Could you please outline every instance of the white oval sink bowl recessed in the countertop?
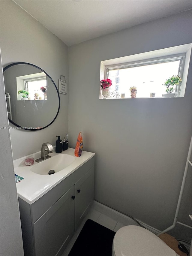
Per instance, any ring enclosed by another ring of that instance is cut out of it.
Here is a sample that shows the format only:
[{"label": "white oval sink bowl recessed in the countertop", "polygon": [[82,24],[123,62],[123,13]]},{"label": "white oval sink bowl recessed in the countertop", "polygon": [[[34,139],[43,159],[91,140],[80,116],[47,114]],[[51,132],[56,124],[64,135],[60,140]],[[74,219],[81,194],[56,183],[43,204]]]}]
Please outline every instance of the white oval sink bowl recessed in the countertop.
[{"label": "white oval sink bowl recessed in the countertop", "polygon": [[[63,170],[75,161],[75,156],[59,154],[48,158],[35,166],[31,167],[31,171],[40,175],[49,175],[49,170],[54,170],[55,173]],[[54,175],[54,174],[51,174]]]}]

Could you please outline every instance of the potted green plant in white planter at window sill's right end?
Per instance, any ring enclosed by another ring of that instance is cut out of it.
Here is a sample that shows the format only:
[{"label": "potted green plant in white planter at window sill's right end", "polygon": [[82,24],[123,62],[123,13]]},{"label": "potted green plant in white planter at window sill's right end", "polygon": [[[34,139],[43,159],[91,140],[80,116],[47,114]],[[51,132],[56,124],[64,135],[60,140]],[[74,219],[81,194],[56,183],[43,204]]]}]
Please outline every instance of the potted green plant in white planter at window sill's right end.
[{"label": "potted green plant in white planter at window sill's right end", "polygon": [[175,96],[174,91],[176,89],[176,85],[178,85],[181,81],[182,79],[178,75],[174,75],[168,78],[164,83],[164,86],[167,88],[165,90],[167,93],[162,94],[162,97],[165,97],[165,98],[174,97]]}]

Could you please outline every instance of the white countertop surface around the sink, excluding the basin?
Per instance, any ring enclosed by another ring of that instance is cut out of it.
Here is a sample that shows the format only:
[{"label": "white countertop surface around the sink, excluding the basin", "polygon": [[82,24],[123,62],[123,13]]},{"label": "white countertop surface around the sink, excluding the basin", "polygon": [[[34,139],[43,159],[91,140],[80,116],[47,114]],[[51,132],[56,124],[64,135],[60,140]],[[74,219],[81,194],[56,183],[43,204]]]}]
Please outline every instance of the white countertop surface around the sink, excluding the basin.
[{"label": "white countertop surface around the sink, excluding the basin", "polygon": [[[60,154],[74,156],[74,151],[75,149],[68,148],[67,150],[63,151]],[[54,155],[60,154],[53,152],[52,154],[49,155],[53,157]],[[40,197],[46,194],[49,190],[55,187],[59,182],[64,180],[67,176],[69,176],[76,169],[82,166],[85,162],[91,159],[94,155],[95,153],[82,151],[82,155],[80,157],[74,156],[76,159],[72,164],[52,175],[40,175],[32,172],[30,169],[35,165],[39,164],[35,161],[33,165],[25,165],[26,158],[33,157],[34,160],[40,158],[41,151],[14,160],[13,164],[15,174],[24,178],[22,181],[16,183],[18,197],[22,198],[29,204],[34,203],[36,200],[38,200]]]}]

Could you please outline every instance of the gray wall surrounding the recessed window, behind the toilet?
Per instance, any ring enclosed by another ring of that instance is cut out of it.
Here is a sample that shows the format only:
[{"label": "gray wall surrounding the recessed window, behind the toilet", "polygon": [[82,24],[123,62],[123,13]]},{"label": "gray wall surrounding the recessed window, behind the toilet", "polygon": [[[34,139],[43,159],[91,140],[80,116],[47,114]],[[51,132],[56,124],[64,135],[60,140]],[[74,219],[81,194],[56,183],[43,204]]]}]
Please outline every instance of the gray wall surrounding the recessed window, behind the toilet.
[{"label": "gray wall surrounding the recessed window, behind the toilet", "polygon": [[[188,43],[191,11],[69,47],[69,141],[81,130],[96,153],[95,200],[159,230],[173,224],[190,144],[191,62],[184,98],[99,100],[100,62]],[[179,221],[191,225],[187,179]]]}]

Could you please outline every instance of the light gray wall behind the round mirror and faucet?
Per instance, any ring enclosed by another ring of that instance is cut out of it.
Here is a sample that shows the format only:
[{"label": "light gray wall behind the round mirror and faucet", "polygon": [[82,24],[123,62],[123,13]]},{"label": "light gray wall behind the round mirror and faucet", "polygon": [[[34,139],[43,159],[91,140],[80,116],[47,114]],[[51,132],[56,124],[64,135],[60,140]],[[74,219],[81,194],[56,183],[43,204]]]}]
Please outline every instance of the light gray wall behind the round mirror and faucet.
[{"label": "light gray wall behind the round mirror and faucet", "polygon": [[[28,62],[46,71],[57,88],[60,75],[68,83],[67,45],[13,1],[0,1],[0,45],[3,68],[13,62]],[[44,142],[54,146],[56,136],[64,137],[68,132],[68,93],[60,94],[60,99],[60,112],[49,127],[10,130],[13,159],[40,151]]]}]

